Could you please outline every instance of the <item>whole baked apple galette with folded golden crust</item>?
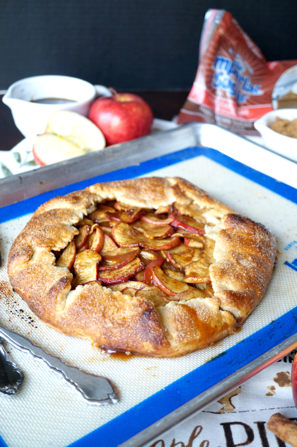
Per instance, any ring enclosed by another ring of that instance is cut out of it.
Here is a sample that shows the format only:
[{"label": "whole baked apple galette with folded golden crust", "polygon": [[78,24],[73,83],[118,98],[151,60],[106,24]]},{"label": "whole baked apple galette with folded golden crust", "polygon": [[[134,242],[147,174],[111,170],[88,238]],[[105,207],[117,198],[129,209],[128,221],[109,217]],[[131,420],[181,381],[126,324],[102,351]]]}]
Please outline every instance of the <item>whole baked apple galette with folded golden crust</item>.
[{"label": "whole baked apple galette with folded golden crust", "polygon": [[226,337],[276,257],[261,224],[178,177],[97,183],[44,203],[8,274],[47,325],[96,346],[175,357]]}]

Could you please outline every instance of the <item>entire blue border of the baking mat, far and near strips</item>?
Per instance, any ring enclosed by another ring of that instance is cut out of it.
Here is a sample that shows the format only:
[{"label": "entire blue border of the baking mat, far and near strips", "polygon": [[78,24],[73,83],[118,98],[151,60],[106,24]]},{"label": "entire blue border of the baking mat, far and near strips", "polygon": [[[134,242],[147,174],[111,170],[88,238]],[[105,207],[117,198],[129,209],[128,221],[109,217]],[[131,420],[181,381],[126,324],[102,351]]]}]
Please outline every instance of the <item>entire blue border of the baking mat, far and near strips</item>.
[{"label": "entire blue border of the baking mat, far and near strips", "polygon": [[[201,155],[297,203],[297,190],[292,186],[276,181],[215,149],[192,147],[2,207],[0,222],[33,212],[39,205],[56,195],[67,194],[96,182],[138,177]],[[180,175],[183,176],[183,173]],[[296,332],[297,307],[68,447],[116,447],[124,443]],[[0,438],[0,447],[2,447],[1,441]],[[3,447],[6,447],[4,442]]]}]

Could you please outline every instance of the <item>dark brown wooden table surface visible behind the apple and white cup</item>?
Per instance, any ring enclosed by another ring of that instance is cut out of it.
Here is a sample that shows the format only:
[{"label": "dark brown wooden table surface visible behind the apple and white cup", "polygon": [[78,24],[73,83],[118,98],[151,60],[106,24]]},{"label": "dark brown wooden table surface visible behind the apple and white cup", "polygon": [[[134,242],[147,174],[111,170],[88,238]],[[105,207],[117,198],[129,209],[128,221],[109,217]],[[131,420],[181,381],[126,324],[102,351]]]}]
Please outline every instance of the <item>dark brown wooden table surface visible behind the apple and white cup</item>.
[{"label": "dark brown wooden table surface visible behind the apple and white cup", "polygon": [[[135,92],[133,92],[135,93]],[[155,118],[171,120],[180,111],[188,92],[136,92],[153,109]],[[13,122],[9,107],[0,95],[0,150],[9,151],[24,137]]]}]

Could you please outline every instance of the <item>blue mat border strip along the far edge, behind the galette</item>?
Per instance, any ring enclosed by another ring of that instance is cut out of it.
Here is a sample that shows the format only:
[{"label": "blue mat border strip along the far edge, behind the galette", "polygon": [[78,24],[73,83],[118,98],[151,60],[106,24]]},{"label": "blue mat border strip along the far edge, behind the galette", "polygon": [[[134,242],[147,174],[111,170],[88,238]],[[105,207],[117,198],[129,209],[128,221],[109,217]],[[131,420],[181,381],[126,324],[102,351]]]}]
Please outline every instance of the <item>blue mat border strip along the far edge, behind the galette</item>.
[{"label": "blue mat border strip along the far edge, behind the galette", "polygon": [[[161,157],[154,158],[153,160],[144,161],[136,166],[128,166],[127,168],[119,169],[118,171],[109,172],[97,177],[89,178],[88,180],[73,183],[72,185],[63,186],[62,188],[22,200],[21,202],[12,203],[11,205],[0,208],[0,223],[10,219],[15,219],[16,217],[28,213],[33,213],[39,205],[47,200],[50,200],[56,195],[64,195],[78,189],[83,189],[97,182],[125,180],[127,178],[138,177],[157,169],[165,168],[171,164],[176,164],[180,161],[188,160],[201,155],[222,164],[222,166],[231,169],[243,177],[255,181],[259,185],[265,186],[265,188],[280,194],[282,197],[297,203],[297,190],[292,186],[286,185],[285,183],[277,181],[266,174],[260,173],[259,171],[256,171],[255,169],[252,169],[249,166],[246,166],[245,164],[222,154],[216,149],[200,148],[195,146],[193,148],[182,149],[181,151],[163,155]],[[181,172],[180,175],[182,177],[183,173]]]}]

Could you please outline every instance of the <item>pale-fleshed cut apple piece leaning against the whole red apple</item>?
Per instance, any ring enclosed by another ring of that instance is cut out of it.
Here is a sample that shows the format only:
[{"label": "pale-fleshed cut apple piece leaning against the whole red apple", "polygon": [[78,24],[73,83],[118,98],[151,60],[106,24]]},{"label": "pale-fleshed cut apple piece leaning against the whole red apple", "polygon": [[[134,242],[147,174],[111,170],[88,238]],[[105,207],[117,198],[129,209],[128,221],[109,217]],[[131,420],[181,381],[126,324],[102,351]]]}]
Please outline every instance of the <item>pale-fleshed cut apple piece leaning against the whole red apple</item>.
[{"label": "pale-fleshed cut apple piece leaning against the whole red apple", "polygon": [[83,115],[70,110],[57,110],[52,113],[45,133],[65,138],[84,153],[100,151],[106,146],[105,137],[99,127]]}]

